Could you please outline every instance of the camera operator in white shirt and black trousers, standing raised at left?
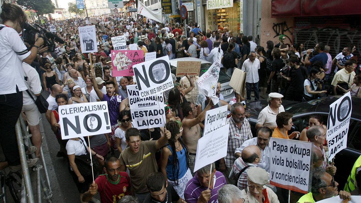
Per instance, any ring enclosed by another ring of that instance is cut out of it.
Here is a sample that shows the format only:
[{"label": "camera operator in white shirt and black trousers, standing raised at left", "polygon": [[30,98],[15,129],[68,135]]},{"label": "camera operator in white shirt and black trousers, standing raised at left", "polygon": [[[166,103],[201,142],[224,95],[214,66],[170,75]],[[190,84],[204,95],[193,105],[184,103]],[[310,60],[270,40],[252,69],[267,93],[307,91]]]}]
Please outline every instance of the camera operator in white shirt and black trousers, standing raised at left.
[{"label": "camera operator in white shirt and black trousers, standing raised at left", "polygon": [[[15,124],[23,105],[22,91],[27,90],[24,81],[22,62],[31,64],[35,59],[38,49],[44,52],[43,38],[35,36],[35,43],[29,49],[21,40],[19,33],[27,21],[26,14],[16,4],[4,2],[0,18],[0,143],[10,170],[21,170],[20,156],[17,145]],[[6,116],[5,116],[6,115]],[[32,167],[39,160],[29,160],[28,166]]]}]

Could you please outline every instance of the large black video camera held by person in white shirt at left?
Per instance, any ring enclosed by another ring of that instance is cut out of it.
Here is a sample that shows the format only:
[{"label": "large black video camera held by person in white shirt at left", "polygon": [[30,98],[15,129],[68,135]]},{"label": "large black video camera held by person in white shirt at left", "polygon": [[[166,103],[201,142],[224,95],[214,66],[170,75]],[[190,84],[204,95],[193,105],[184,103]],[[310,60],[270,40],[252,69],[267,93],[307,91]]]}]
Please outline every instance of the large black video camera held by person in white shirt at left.
[{"label": "large black video camera held by person in white shirt at left", "polygon": [[35,23],[35,26],[38,28],[30,25],[27,22],[25,22],[22,25],[22,28],[24,29],[23,32],[24,42],[28,43],[30,46],[34,45],[36,34],[38,34],[38,37],[43,38],[44,46],[48,47],[48,52],[54,52],[55,41],[59,42],[60,44],[64,44],[64,40],[62,40],[56,34],[51,33],[49,30],[45,29],[39,24]]}]

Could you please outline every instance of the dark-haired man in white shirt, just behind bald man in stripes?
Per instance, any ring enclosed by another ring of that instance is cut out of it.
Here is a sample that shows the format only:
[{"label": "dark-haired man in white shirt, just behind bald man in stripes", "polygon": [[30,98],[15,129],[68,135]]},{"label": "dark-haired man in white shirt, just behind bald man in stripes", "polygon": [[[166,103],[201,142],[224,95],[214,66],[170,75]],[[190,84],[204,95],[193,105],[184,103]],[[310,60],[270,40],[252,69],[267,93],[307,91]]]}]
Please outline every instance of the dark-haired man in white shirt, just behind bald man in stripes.
[{"label": "dark-haired man in white shirt, just behind bald man in stripes", "polygon": [[269,173],[270,172],[269,142],[271,136],[272,136],[272,130],[270,128],[268,127],[258,128],[257,137],[243,142],[243,144],[239,148],[236,148],[234,154],[235,157],[236,158],[241,157],[242,150],[245,147],[248,147],[250,145],[256,145],[261,150],[261,157],[260,157],[260,162],[258,163],[258,167],[265,169]]}]

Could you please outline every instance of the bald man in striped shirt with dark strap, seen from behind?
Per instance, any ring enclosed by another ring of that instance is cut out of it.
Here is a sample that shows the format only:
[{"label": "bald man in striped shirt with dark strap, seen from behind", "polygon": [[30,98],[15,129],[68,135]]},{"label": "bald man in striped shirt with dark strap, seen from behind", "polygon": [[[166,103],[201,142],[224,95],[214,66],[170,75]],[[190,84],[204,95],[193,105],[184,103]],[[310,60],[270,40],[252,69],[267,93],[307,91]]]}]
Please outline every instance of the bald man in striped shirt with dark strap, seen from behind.
[{"label": "bald man in striped shirt with dark strap, seen from behind", "polygon": [[229,174],[229,179],[237,181],[240,190],[247,188],[247,171],[251,167],[258,167],[261,160],[261,150],[256,145],[245,147],[242,156],[236,159]]}]

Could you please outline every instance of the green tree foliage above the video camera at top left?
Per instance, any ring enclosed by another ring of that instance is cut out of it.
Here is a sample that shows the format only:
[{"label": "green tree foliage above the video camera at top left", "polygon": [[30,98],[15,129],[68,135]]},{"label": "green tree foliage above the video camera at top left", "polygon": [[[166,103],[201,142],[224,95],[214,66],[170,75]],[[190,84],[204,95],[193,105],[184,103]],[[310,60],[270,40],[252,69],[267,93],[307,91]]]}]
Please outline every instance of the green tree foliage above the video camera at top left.
[{"label": "green tree foliage above the video camera at top left", "polygon": [[27,10],[35,10],[38,16],[54,13],[55,10],[51,0],[17,0],[16,3]]}]

